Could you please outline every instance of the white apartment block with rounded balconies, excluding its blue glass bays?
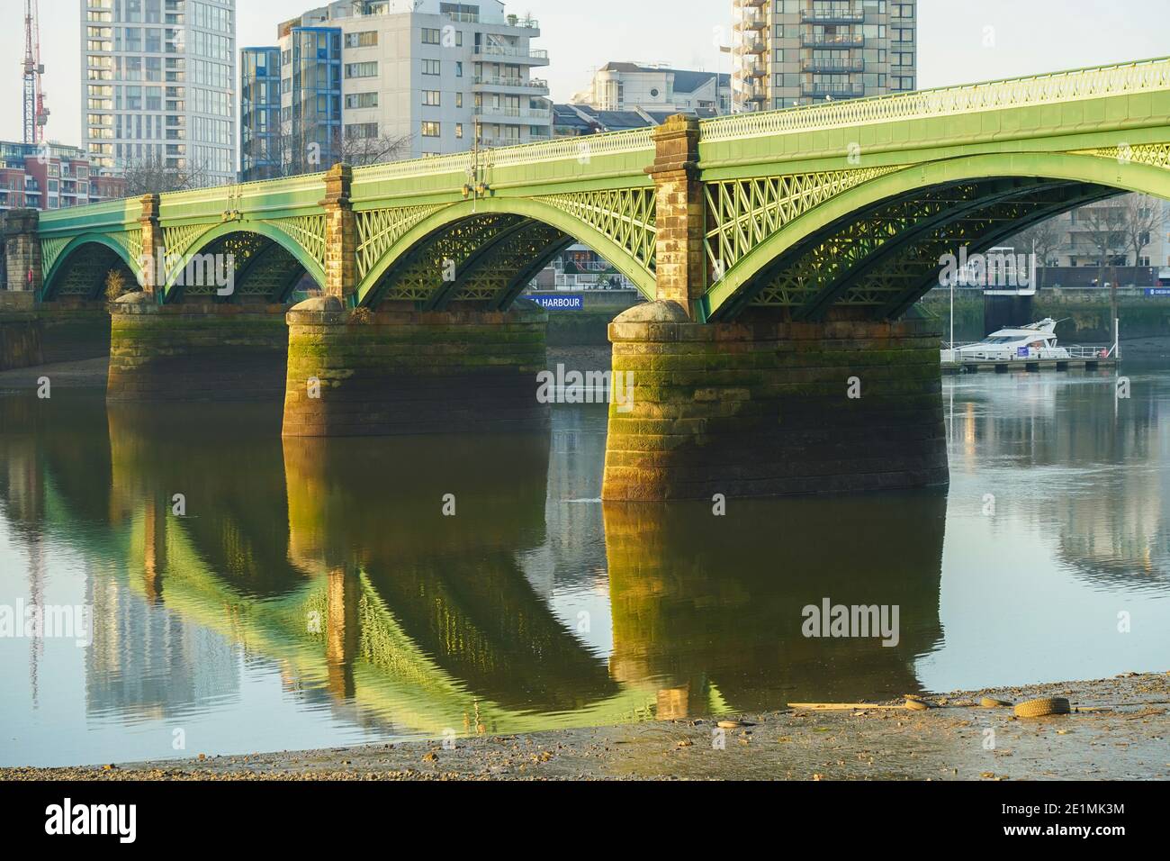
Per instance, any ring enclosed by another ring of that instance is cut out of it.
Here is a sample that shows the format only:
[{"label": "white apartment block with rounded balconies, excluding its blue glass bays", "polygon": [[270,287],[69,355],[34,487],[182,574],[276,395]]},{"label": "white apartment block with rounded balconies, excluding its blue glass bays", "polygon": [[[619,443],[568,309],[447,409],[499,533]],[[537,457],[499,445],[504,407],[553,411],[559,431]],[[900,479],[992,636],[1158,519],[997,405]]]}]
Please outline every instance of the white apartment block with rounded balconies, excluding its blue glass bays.
[{"label": "white apartment block with rounded balconies, excluding its blue glass bays", "polygon": [[[402,156],[429,156],[551,137],[549,56],[536,21],[497,0],[340,0],[281,25],[282,56],[296,28],[342,33],[346,137],[408,137]],[[292,121],[285,98],[284,122]]]}]

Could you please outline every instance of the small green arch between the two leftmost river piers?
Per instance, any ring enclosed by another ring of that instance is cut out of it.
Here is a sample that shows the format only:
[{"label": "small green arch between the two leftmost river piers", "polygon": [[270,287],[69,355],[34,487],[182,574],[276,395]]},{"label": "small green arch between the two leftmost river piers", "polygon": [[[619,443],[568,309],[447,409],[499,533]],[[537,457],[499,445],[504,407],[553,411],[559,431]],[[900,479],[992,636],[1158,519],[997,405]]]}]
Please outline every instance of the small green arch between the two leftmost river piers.
[{"label": "small green arch between the two leftmost river piers", "polygon": [[[234,289],[223,301],[267,300],[282,303],[308,274],[318,287],[325,286],[322,254],[310,253],[304,245],[280,226],[259,220],[223,221],[206,230],[185,245],[167,248],[168,258],[181,261],[170,272],[164,287],[164,302],[183,301],[197,293],[216,296],[208,285],[185,285],[187,264],[197,254],[232,254],[234,261]],[[192,287],[197,289],[192,289]]]}]

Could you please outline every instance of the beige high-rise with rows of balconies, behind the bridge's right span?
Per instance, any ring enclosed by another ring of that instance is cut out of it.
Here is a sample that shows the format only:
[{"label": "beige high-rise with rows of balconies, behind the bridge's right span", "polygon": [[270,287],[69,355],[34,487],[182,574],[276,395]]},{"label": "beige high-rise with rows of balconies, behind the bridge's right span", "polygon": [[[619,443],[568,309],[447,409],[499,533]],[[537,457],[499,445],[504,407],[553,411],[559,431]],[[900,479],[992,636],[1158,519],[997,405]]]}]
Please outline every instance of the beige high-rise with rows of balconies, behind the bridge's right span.
[{"label": "beige high-rise with rows of balconies, behind the bridge's right span", "polygon": [[917,0],[732,0],[735,110],[917,86]]}]

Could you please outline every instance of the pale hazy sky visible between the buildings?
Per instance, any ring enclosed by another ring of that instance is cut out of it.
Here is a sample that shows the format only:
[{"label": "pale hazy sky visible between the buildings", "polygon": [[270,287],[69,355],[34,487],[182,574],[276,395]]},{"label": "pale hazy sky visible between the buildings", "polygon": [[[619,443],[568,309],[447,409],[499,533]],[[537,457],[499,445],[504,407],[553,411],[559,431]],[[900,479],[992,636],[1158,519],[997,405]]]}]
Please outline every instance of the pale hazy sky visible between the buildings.
[{"label": "pale hazy sky visible between the buildings", "polygon": [[[81,0],[40,0],[48,137],[81,143]],[[274,45],[276,23],[314,0],[236,0],[238,46]],[[539,20],[552,98],[566,102],[610,61],[729,71],[718,40],[730,0],[523,0]],[[944,87],[1170,55],[1166,0],[918,0],[918,86]],[[22,0],[0,0],[0,139],[21,138]]]}]

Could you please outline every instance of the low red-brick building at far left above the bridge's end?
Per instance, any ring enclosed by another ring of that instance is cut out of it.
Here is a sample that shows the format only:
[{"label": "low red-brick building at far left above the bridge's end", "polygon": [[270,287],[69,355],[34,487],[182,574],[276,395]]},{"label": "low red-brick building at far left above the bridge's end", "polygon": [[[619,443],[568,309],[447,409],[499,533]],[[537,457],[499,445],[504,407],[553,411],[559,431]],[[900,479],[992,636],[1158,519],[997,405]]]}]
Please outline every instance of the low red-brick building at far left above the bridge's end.
[{"label": "low red-brick building at far left above the bridge's end", "polygon": [[0,210],[62,210],[123,197],[125,180],[80,146],[0,141]]}]

